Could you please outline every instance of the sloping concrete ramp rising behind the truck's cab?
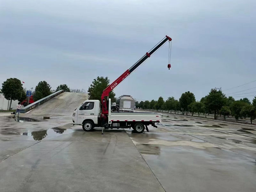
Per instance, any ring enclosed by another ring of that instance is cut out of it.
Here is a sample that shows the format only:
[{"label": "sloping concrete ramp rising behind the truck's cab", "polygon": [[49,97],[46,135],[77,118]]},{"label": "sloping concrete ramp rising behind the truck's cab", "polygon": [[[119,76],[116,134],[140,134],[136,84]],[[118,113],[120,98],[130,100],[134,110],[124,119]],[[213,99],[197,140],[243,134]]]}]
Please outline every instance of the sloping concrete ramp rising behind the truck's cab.
[{"label": "sloping concrete ramp rising behind the truck's cab", "polygon": [[32,109],[26,113],[26,116],[51,116],[51,118],[58,116],[70,118],[75,108],[87,99],[88,94],[85,93],[63,92]]}]

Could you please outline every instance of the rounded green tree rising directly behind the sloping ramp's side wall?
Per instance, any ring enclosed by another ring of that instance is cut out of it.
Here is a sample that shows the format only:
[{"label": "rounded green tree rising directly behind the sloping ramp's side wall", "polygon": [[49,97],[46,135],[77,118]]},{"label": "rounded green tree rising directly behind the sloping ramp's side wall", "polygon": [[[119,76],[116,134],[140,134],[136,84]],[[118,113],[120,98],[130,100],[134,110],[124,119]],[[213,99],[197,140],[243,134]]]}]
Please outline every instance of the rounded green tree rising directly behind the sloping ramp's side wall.
[{"label": "rounded green tree rising directly behind the sloping ramp's side wall", "polygon": [[33,100],[40,100],[48,95],[52,94],[51,86],[46,81],[40,81],[35,88],[35,93],[33,95]]}]

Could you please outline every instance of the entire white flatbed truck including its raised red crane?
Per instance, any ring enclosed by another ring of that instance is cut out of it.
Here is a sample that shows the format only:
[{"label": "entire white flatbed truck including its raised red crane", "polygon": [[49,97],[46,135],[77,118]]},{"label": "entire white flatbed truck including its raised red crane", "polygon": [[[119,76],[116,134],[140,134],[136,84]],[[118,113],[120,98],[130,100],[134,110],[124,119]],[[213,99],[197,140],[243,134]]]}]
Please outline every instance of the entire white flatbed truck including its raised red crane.
[{"label": "entire white flatbed truck including its raised red crane", "polygon": [[[99,100],[86,100],[78,108],[76,108],[73,113],[73,124],[82,125],[84,131],[92,131],[94,127],[104,127],[105,129],[132,128],[135,132],[142,133],[145,128],[148,131],[148,125],[152,125],[153,127],[157,128],[156,123],[161,123],[160,113],[111,112],[111,99],[109,99],[108,96],[117,85],[119,85],[127,76],[129,76],[168,40],[170,43],[172,38],[165,36],[149,52],[146,52],[146,54],[139,61],[132,65],[131,68],[127,69],[113,83],[104,89],[101,95],[101,103]],[[169,49],[169,52],[170,51],[171,50]],[[171,64],[168,64],[167,67],[170,69]]]}]

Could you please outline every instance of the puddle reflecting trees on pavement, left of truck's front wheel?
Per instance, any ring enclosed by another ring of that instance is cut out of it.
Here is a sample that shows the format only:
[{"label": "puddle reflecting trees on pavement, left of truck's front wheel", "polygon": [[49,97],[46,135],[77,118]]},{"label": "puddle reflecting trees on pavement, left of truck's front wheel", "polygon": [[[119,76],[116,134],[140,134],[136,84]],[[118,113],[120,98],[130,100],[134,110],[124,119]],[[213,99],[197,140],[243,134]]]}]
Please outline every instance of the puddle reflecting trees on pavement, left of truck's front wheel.
[{"label": "puddle reflecting trees on pavement, left of truck's front wheel", "polygon": [[59,127],[54,127],[52,129],[47,129],[42,131],[20,133],[20,135],[27,136],[26,137],[27,140],[40,141],[45,138],[51,139],[51,138],[57,137],[59,136],[59,134],[68,134],[72,132],[74,132],[74,130],[72,129],[61,129]]}]

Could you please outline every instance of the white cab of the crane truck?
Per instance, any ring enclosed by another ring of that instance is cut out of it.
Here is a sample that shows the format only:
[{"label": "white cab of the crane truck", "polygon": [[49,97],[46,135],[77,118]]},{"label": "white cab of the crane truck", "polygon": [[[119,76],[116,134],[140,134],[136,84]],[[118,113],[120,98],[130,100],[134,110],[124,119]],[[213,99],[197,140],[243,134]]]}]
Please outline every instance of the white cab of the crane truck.
[{"label": "white cab of the crane truck", "polygon": [[84,101],[73,113],[72,121],[74,124],[83,124],[91,121],[93,126],[99,123],[101,104],[99,100]]}]

